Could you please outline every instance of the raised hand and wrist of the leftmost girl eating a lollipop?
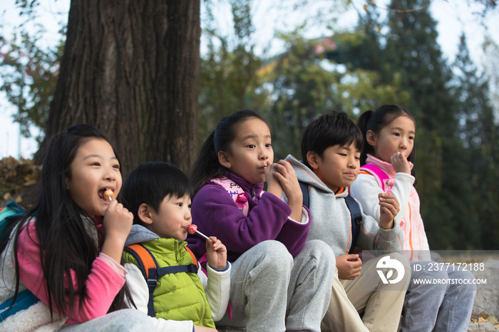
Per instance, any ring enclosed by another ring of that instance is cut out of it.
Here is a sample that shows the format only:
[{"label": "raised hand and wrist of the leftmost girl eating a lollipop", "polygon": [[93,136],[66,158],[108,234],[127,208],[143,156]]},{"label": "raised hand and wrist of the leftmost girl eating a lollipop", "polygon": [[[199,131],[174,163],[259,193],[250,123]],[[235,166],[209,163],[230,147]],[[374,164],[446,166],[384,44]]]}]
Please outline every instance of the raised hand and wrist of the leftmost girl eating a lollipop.
[{"label": "raised hand and wrist of the leftmost girl eating a lollipop", "polygon": [[133,224],[133,214],[113,199],[104,212],[103,229],[106,234],[101,252],[118,263],[121,261],[125,240]]}]

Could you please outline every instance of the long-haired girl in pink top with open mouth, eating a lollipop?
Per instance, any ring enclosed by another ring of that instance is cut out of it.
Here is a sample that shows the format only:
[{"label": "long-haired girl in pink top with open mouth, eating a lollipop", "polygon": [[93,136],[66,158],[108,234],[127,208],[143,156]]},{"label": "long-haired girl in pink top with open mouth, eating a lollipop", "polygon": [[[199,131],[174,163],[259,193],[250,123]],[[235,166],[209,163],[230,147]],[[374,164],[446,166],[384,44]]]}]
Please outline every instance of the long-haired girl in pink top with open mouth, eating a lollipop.
[{"label": "long-haired girl in pink top with open mouth, eating a lollipop", "polygon": [[133,214],[104,194],[122,183],[106,136],[88,125],[58,133],[40,181],[37,204],[6,219],[0,234],[0,302],[8,304],[0,330],[152,331],[144,313],[119,310],[128,303],[120,259]]}]

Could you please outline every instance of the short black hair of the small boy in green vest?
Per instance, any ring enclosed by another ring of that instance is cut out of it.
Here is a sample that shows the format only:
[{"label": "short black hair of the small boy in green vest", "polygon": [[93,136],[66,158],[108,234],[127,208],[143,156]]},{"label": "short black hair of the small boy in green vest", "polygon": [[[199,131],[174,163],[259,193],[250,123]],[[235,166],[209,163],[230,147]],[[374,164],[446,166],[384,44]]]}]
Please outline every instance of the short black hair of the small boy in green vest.
[{"label": "short black hair of the small boy in green vest", "polygon": [[148,204],[156,212],[166,197],[192,197],[192,185],[178,167],[168,162],[145,162],[135,168],[123,182],[120,197],[123,206],[133,213],[133,224],[144,223],[138,217],[140,204]]}]

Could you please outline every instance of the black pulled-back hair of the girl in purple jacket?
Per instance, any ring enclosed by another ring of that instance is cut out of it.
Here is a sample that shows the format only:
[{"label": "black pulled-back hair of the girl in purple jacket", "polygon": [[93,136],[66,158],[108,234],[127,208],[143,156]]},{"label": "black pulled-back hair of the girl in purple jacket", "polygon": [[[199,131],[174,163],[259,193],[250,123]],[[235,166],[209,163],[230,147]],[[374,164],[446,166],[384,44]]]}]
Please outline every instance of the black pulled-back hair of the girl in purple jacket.
[{"label": "black pulled-back hair of the girl in purple jacket", "polygon": [[[236,113],[225,116],[220,120],[215,131],[203,143],[197,160],[192,165],[190,178],[196,194],[205,183],[224,175],[225,167],[218,161],[218,152],[230,153],[230,143],[236,137],[237,126],[251,118],[257,118],[267,123],[253,110],[238,110]],[[268,123],[267,123],[268,126]]]}]

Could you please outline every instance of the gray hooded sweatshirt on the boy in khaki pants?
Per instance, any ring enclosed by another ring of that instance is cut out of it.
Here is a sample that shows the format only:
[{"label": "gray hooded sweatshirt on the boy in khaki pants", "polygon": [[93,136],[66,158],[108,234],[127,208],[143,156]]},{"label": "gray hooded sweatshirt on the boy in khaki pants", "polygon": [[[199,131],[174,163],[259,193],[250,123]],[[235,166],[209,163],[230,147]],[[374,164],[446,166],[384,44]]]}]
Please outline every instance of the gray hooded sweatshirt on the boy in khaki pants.
[{"label": "gray hooded sweatshirt on the boy in khaki pants", "polygon": [[[348,190],[334,194],[309,167],[288,155],[286,160],[291,163],[297,173],[298,180],[305,182],[309,188],[309,209],[312,214],[310,232],[307,241],[319,239],[333,249],[334,256],[349,253],[351,247],[351,217],[344,197]],[[287,202],[286,197],[283,197]],[[361,204],[357,201],[362,212],[362,226],[357,237],[356,247],[364,250],[374,250],[378,256],[386,251],[401,251],[403,233],[396,224],[392,229],[381,229],[379,222],[373,217],[364,214]],[[381,252],[380,252],[381,251]]]}]

